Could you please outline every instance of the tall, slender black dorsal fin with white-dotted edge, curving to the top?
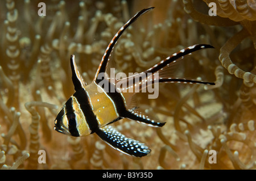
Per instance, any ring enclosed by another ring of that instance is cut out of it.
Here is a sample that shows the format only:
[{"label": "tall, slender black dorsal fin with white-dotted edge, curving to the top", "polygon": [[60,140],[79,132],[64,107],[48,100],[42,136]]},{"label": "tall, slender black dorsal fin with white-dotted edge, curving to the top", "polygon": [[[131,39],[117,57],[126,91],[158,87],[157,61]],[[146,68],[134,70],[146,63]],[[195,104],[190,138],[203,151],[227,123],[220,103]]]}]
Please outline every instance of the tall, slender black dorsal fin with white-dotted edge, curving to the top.
[{"label": "tall, slender black dorsal fin with white-dotted edge, curving to the top", "polygon": [[104,73],[106,71],[106,66],[108,65],[110,54],[112,53],[112,50],[114,48],[115,43],[117,43],[117,40],[122,35],[122,33],[126,30],[127,27],[129,27],[135,20],[139,18],[139,16],[143,15],[145,12],[150,11],[154,9],[154,7],[150,7],[148,9],[143,9],[139,11],[136,15],[133,16],[125,25],[123,25],[120,30],[115,34],[113,39],[110,41],[108,48],[106,49],[104,56],[102,57],[101,63],[98,67],[98,70],[96,72],[96,75],[94,77],[93,81],[96,81],[96,83],[100,82],[101,79],[98,79],[98,74]]}]

